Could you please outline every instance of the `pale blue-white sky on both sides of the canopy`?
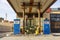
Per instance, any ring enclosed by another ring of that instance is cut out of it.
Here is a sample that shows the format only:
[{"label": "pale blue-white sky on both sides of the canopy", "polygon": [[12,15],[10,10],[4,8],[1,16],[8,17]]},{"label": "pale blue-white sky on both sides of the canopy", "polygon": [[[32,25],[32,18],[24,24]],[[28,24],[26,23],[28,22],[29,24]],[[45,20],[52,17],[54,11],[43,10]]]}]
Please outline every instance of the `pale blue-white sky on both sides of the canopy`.
[{"label": "pale blue-white sky on both sides of the canopy", "polygon": [[[57,0],[51,8],[59,8],[60,7],[60,0]],[[9,5],[7,0],[0,0],[0,17],[6,19],[7,14],[7,20],[13,21],[16,18],[16,13],[12,9],[12,7]]]}]

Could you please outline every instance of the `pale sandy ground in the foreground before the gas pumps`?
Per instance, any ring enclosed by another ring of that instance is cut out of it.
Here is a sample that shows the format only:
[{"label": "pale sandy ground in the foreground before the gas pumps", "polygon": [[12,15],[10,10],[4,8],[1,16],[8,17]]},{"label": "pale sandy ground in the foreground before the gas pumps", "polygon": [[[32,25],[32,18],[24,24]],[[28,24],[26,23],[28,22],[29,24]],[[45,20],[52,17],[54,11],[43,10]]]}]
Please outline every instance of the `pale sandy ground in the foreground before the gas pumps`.
[{"label": "pale sandy ground in the foreground before the gas pumps", "polygon": [[60,40],[60,36],[53,36],[53,35],[23,35],[23,36],[8,36],[3,37],[0,40]]}]

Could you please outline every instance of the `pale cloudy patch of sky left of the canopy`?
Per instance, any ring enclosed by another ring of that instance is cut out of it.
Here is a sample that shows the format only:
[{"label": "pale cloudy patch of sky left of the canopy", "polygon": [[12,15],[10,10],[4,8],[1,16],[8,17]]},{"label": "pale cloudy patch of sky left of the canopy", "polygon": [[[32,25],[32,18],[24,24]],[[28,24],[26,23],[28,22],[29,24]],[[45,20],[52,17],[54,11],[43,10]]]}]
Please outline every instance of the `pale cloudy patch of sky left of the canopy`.
[{"label": "pale cloudy patch of sky left of the canopy", "polygon": [[8,15],[8,20],[13,20],[14,18],[16,18],[16,14],[8,4],[7,0],[0,0],[0,17],[6,18],[6,13]]}]

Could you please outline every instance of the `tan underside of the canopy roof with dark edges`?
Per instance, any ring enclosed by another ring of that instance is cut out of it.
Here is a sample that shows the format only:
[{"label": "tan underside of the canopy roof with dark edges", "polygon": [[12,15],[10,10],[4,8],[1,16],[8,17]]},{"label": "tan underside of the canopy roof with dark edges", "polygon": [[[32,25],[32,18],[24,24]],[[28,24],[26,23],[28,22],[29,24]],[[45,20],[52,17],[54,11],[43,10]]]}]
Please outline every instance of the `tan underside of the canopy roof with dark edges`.
[{"label": "tan underside of the canopy roof with dark edges", "polygon": [[45,12],[56,0],[7,0],[16,13],[22,13],[25,9],[25,13],[37,13],[37,9],[40,12]]}]

